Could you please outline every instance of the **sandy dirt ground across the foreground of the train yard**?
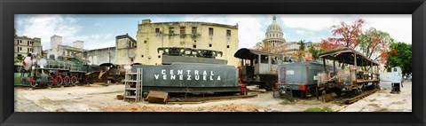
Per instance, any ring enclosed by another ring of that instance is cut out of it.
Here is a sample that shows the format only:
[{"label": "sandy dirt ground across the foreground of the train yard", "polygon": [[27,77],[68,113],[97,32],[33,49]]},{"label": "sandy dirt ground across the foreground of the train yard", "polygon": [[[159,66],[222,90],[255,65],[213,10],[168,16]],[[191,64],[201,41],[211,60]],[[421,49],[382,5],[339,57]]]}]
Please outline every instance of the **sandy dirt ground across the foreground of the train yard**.
[{"label": "sandy dirt ground across the foreground of the train yard", "polygon": [[[324,103],[316,98],[288,102],[272,98],[272,92],[257,93],[255,98],[221,99],[200,103],[150,104],[118,100],[124,85],[91,85],[65,88],[15,89],[16,112],[302,112],[312,107],[327,106],[340,112],[411,112],[411,82],[404,83],[400,94],[378,91],[351,105]],[[392,106],[390,106],[392,105]]]}]

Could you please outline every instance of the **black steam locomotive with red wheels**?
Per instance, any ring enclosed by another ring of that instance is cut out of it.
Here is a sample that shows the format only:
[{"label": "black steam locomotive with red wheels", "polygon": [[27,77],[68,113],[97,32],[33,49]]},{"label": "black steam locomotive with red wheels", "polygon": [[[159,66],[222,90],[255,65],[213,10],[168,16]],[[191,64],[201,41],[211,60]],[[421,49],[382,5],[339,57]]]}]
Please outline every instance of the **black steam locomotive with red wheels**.
[{"label": "black steam locomotive with red wheels", "polygon": [[23,86],[52,86],[75,85],[76,83],[91,83],[86,75],[91,66],[82,59],[35,59],[31,53],[22,61],[20,83]]}]

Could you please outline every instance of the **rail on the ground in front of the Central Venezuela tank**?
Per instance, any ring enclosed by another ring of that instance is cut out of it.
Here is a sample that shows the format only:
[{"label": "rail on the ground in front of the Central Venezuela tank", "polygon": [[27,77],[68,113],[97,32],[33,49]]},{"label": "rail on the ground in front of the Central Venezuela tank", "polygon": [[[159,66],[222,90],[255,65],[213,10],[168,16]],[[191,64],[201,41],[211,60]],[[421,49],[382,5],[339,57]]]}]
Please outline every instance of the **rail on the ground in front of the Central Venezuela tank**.
[{"label": "rail on the ground in front of the Central Venezuela tank", "polygon": [[204,98],[169,98],[167,102],[201,102],[206,100],[217,100],[217,99],[231,99],[231,98],[253,98],[257,94],[250,95],[236,95],[236,96],[218,96],[218,97],[204,97]]}]

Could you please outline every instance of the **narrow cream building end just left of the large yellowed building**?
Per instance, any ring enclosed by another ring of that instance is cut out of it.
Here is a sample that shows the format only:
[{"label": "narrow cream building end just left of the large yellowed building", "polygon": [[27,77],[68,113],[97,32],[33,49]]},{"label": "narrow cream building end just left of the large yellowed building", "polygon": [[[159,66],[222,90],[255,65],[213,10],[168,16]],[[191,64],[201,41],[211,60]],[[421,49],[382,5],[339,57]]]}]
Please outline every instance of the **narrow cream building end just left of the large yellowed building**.
[{"label": "narrow cream building end just left of the large yellowed building", "polygon": [[137,47],[137,41],[130,35],[117,35],[115,37],[115,63],[118,65],[133,64]]}]

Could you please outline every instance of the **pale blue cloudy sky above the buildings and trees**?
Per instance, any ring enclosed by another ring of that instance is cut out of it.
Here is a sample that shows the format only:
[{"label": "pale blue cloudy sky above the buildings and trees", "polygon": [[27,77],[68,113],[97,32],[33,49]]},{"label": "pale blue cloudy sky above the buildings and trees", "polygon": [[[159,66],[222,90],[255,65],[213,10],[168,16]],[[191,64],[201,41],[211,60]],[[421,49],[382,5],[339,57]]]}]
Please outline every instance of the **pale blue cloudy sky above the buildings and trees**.
[{"label": "pale blue cloudy sky above the buildings and trees", "polygon": [[62,44],[72,45],[81,40],[84,49],[100,49],[115,46],[115,36],[129,34],[136,39],[138,23],[151,22],[203,21],[226,25],[238,24],[240,48],[252,48],[265,38],[266,28],[272,17],[282,28],[287,42],[305,40],[319,43],[321,39],[333,36],[331,27],[340,22],[365,20],[366,31],[376,28],[387,32],[398,42],[412,43],[411,14],[16,14],[17,35],[40,37],[43,50],[50,48],[51,35],[62,36]]}]

